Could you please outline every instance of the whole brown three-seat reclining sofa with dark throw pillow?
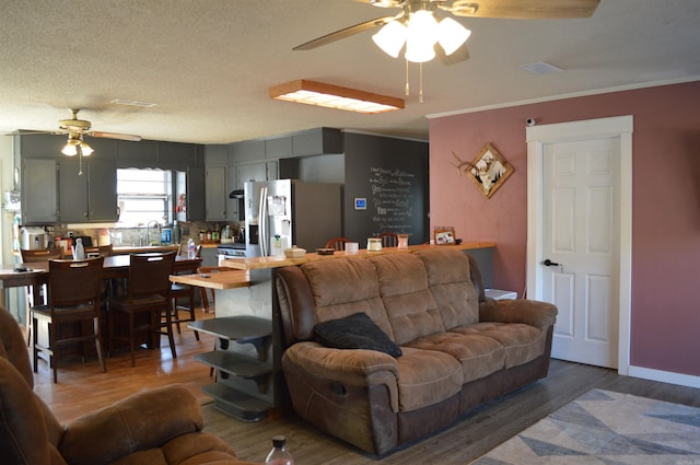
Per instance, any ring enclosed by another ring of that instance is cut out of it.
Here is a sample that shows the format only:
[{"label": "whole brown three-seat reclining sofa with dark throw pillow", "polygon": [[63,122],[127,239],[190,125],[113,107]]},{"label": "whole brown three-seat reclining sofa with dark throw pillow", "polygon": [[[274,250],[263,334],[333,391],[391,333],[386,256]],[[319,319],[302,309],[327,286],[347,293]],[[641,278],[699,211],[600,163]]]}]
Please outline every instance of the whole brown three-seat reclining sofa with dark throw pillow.
[{"label": "whole brown three-seat reclining sofa with dark throw pillow", "polygon": [[[372,454],[445,428],[549,369],[557,309],[487,300],[474,258],[450,246],[284,267],[275,288],[294,410]],[[387,353],[392,345],[400,356]]]}]

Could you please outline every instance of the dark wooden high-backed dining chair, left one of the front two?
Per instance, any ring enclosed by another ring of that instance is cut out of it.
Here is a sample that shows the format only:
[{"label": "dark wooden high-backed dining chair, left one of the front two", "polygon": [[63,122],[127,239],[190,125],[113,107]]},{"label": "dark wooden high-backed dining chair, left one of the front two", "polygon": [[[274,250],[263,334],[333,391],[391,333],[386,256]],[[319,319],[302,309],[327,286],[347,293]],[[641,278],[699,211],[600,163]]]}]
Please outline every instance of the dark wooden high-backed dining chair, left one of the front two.
[{"label": "dark wooden high-backed dining chair, left one of the front two", "polygon": [[[104,257],[84,260],[49,260],[48,305],[33,306],[32,326],[34,372],[37,373],[40,353],[48,356],[58,381],[58,358],[61,347],[83,342],[83,360],[86,341],[94,341],[102,372],[106,372],[102,356],[102,324],[100,294]],[[48,338],[39,337],[39,325],[46,324]],[[68,325],[71,324],[71,327]]]}]

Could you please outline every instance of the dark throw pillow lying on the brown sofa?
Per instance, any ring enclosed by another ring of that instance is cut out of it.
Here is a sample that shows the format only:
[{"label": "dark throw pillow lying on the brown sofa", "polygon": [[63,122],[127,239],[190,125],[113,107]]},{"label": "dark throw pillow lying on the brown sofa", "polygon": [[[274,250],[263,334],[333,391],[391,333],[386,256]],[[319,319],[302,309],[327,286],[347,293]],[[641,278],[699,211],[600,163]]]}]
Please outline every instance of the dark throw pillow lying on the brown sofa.
[{"label": "dark throw pillow lying on the brown sofa", "polygon": [[392,357],[401,356],[401,348],[363,312],[319,323],[314,333],[316,340],[326,347],[378,350]]}]

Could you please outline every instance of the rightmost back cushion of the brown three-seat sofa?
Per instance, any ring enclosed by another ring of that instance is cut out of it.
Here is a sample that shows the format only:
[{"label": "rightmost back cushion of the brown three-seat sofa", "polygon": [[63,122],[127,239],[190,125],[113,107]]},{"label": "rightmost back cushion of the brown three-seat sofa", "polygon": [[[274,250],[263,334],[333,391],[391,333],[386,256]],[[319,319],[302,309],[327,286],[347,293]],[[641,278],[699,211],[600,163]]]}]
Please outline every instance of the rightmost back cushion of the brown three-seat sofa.
[{"label": "rightmost back cushion of the brown three-seat sofa", "polygon": [[[455,253],[456,252],[456,253]],[[467,254],[450,246],[416,252],[425,265],[428,286],[435,299],[445,329],[479,321],[479,295]]]}]

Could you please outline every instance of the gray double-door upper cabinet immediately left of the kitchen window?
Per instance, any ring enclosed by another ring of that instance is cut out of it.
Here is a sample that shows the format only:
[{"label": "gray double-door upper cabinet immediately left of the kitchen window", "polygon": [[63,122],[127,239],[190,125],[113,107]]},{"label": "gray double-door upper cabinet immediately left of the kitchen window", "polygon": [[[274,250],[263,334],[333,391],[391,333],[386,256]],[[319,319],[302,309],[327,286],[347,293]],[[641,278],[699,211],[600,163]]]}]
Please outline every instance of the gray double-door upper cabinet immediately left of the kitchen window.
[{"label": "gray double-door upper cabinet immediately left of the kitchen window", "polygon": [[114,160],[59,160],[61,223],[117,221],[117,167]]}]

